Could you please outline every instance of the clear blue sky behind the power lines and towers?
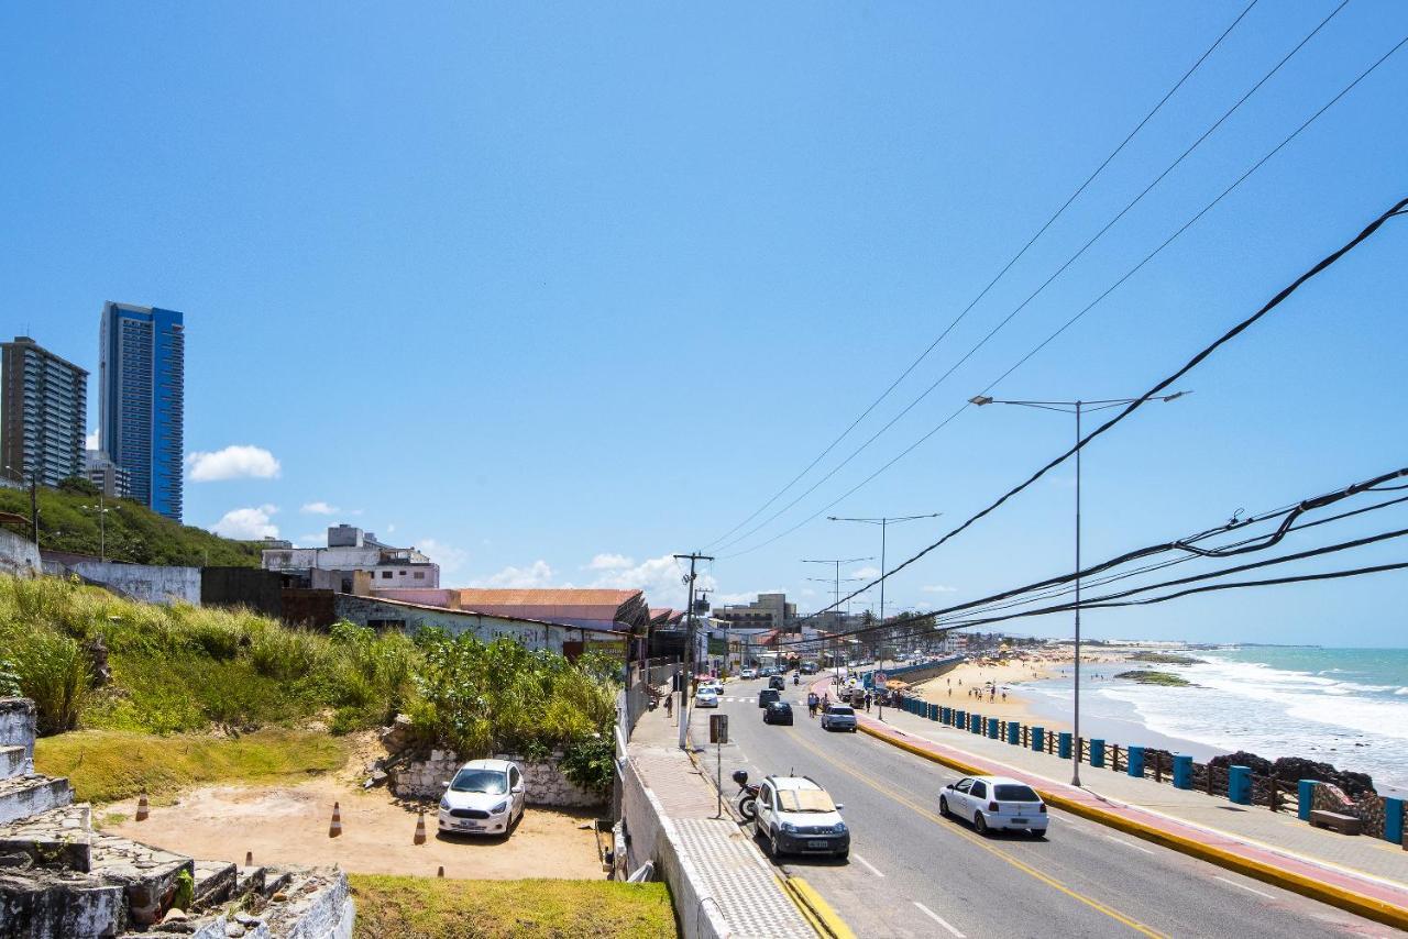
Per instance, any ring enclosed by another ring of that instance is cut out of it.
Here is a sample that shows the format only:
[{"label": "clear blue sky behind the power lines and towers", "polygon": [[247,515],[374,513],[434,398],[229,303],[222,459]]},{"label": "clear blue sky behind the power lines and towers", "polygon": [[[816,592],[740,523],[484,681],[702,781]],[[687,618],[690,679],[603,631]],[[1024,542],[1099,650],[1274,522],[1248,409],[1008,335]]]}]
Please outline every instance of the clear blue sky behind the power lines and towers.
[{"label": "clear blue sky behind the power lines and towers", "polygon": [[[96,367],[104,300],[184,311],[187,448],[220,453],[191,466],[190,524],[314,543],[348,521],[429,549],[448,583],[631,584],[679,603],[667,555],[717,539],[805,466],[1243,4],[1087,4],[1079,18],[990,6],[11,4],[0,328]],[[1257,4],[862,429],[949,369],[1333,6]],[[717,552],[718,595],[786,588],[819,605],[805,579],[821,572],[800,559],[879,553],[872,529],[818,519],[724,556],[948,417],[1404,35],[1408,7],[1353,0],[925,401]],[[1408,194],[1405,82],[1408,51],[995,393],[1138,394]],[[1195,394],[1093,445],[1087,556],[1402,463],[1405,256],[1398,220],[1190,376]],[[96,425],[96,394],[90,410]],[[943,511],[893,531],[901,557],[1070,429],[970,410],[829,514]],[[1067,570],[1071,497],[1071,473],[1055,473],[894,577],[888,604]],[[335,511],[304,508],[318,504]],[[1294,546],[1321,535],[1307,538]],[[1401,645],[1405,583],[1087,624]],[[1064,618],[1022,628],[1069,632]]]}]

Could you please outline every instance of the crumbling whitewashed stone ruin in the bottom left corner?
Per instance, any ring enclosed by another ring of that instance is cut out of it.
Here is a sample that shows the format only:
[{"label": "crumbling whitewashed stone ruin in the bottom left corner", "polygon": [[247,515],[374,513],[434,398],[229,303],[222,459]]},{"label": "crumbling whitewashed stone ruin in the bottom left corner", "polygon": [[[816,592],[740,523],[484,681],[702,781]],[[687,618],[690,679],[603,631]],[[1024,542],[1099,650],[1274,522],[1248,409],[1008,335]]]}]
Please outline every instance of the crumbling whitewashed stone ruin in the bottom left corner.
[{"label": "crumbling whitewashed stone ruin in the bottom left corner", "polygon": [[193,860],[93,829],[34,771],[34,702],[0,698],[0,939],[351,939],[337,869]]}]

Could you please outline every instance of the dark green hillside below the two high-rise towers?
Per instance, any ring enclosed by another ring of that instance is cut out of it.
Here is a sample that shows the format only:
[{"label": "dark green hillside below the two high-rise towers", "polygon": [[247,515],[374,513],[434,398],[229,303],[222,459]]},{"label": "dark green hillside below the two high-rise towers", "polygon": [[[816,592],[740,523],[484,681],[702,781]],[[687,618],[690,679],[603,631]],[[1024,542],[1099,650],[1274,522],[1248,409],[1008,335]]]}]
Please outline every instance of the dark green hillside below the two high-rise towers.
[{"label": "dark green hillside below the two high-rise towers", "polygon": [[[72,487],[72,483],[69,484]],[[83,486],[89,486],[86,481]],[[97,490],[39,489],[39,545],[80,555],[99,553]],[[203,528],[180,525],[131,500],[104,500],[107,556],[139,565],[258,567],[259,548]],[[0,511],[30,515],[28,490],[0,489]],[[28,532],[23,532],[28,535]]]}]

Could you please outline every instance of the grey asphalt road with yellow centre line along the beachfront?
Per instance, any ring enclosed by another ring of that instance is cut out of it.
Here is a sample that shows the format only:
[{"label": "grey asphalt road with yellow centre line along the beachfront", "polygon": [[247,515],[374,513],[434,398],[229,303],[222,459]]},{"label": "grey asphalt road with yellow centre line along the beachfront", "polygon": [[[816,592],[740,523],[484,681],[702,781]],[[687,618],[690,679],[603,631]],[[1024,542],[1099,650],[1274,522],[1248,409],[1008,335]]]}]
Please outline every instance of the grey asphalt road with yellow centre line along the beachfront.
[{"label": "grey asphalt road with yellow centre line along the beachfront", "polygon": [[[807,717],[805,684],[787,684],[793,726],[765,725],[766,681],[729,683],[719,712],[728,794],[735,769],[811,776],[845,808],[849,862],[783,857],[860,936],[1229,936],[1400,935],[1232,871],[1053,811],[1046,840],[979,836],[939,817],[939,790],[959,779],[942,766],[865,733],[821,729]],[[693,739],[711,769],[708,715],[693,711]],[[759,842],[762,847],[762,842]]]}]

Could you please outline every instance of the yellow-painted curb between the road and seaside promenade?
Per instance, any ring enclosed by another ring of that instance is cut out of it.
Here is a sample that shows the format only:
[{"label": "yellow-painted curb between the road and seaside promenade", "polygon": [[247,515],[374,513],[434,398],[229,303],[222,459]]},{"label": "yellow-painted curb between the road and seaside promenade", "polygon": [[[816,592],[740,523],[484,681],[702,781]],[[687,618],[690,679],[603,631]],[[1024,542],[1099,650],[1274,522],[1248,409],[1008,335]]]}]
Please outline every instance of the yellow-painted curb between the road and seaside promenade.
[{"label": "yellow-painted curb between the road and seaside promenade", "polygon": [[[862,726],[860,729],[879,741],[884,741],[891,746],[897,746],[901,750],[924,757],[931,763],[939,763],[941,766],[956,769],[964,776],[987,776],[987,773],[977,766],[932,753],[905,741],[897,741],[888,733],[881,733],[874,728]],[[1301,894],[1302,897],[1309,897],[1311,900],[1329,904],[1331,907],[1338,907],[1339,909],[1364,916],[1366,919],[1373,919],[1374,922],[1381,922],[1387,926],[1394,926],[1395,929],[1408,931],[1408,909],[1397,907],[1388,901],[1374,900],[1373,897],[1366,897],[1352,890],[1345,890],[1343,887],[1333,887],[1312,877],[1276,867],[1274,864],[1267,864],[1221,847],[1214,847],[1212,845],[1195,842],[1191,838],[1184,838],[1183,835],[1140,825],[1139,822],[1124,818],[1122,815],[1094,808],[1077,800],[1067,798],[1059,793],[1045,791],[1039,787],[1036,791],[1041,793],[1042,798],[1046,800],[1048,804],[1062,808],[1071,815],[1080,815],[1081,818],[1114,828],[1125,832],[1126,835],[1142,838],[1143,840],[1169,847],[1181,855],[1188,855],[1190,857],[1197,857],[1198,860],[1205,860],[1211,864],[1217,864],[1218,867],[1271,884],[1273,887],[1280,887],[1283,890]]]}]

